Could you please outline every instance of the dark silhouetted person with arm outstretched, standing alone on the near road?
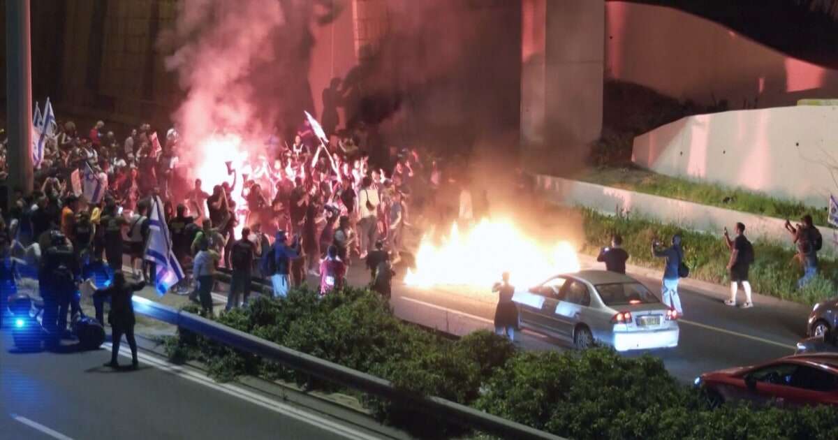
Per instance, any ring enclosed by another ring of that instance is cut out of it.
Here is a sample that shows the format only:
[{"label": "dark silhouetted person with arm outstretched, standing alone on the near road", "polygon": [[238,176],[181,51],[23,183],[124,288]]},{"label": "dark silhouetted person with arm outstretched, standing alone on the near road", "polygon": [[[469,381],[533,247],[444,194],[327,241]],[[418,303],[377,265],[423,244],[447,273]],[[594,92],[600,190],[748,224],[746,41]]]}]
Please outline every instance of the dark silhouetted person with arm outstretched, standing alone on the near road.
[{"label": "dark silhouetted person with arm outstretched, standing alone on the near road", "polygon": [[111,361],[105,366],[119,368],[116,356],[119,355],[119,343],[123,334],[128,341],[128,345],[131,346],[131,367],[136,370],[139,366],[137,339],[134,339],[136,319],[134,318],[134,305],[131,298],[134,292],[142,290],[142,287],[146,287],[145,282],[127,282],[122,272],[116,272],[113,275],[111,286],[96,290],[93,293],[94,298],[111,297],[111,313],[108,315],[108,322],[111,323],[113,349],[111,350]]}]

